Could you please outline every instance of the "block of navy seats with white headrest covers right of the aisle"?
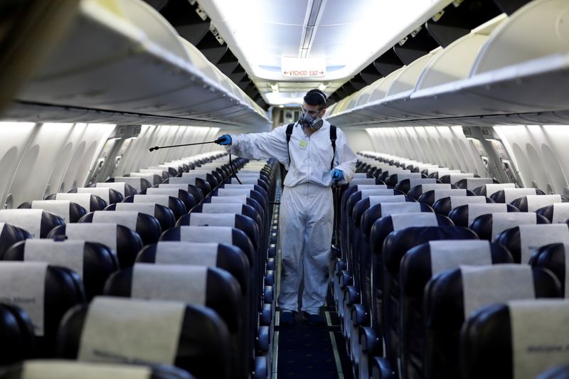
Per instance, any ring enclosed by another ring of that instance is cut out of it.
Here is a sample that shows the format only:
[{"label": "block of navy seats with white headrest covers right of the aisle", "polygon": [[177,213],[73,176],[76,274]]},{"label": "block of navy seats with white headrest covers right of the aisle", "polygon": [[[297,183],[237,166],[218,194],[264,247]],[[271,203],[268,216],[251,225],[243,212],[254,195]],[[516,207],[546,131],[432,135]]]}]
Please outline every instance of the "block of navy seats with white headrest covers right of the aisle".
[{"label": "block of navy seats with white headrest covers right of the aisle", "polygon": [[[474,370],[486,367],[486,361],[468,350],[468,338],[486,336],[464,330],[461,335],[461,327],[484,304],[563,298],[565,268],[546,261],[551,252],[541,260],[536,255],[540,249],[564,254],[567,199],[472,174],[448,174],[448,169],[420,162],[366,155],[358,161],[360,173],[338,199],[339,246],[331,263],[354,373],[360,378],[514,378],[504,374],[515,366],[511,357],[500,362],[506,371],[499,374]],[[445,275],[457,282],[441,279]],[[442,302],[442,292],[430,292],[438,280],[454,286],[445,287]],[[554,303],[560,309],[569,306]],[[538,309],[538,304],[527,306]],[[563,328],[542,326],[553,325]],[[535,368],[524,370],[538,374]]]}]

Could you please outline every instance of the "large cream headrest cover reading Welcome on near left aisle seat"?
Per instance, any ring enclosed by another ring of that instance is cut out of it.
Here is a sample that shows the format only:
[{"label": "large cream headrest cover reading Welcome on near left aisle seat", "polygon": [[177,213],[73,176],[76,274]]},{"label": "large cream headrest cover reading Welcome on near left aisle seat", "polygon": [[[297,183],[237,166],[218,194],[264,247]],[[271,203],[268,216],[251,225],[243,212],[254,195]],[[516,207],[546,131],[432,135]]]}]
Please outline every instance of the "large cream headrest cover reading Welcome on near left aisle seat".
[{"label": "large cream headrest cover reading Welcome on near left aisle seat", "polygon": [[174,364],[186,304],[95,297],[79,346],[79,361]]}]

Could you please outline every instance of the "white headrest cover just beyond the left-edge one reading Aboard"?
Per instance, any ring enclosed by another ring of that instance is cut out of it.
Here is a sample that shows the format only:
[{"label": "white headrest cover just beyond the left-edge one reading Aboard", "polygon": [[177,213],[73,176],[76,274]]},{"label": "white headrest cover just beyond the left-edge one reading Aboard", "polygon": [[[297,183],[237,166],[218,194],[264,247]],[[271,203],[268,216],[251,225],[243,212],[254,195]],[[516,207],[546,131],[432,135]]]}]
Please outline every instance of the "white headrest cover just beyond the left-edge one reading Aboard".
[{"label": "white headrest cover just beyond the left-edge one reading Aboard", "polygon": [[73,269],[83,278],[83,252],[85,241],[80,240],[26,240],[23,260],[26,262],[48,262],[53,266]]}]

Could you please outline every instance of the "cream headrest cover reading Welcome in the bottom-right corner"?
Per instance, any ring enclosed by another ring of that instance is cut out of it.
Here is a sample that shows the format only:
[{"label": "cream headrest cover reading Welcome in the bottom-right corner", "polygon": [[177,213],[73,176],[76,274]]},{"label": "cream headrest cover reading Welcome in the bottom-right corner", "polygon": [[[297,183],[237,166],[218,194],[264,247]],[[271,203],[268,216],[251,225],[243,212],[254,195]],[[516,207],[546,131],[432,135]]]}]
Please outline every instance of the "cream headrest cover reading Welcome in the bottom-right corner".
[{"label": "cream headrest cover reading Welcome in the bottom-right corner", "polygon": [[508,302],[514,379],[533,379],[569,362],[569,302],[535,299]]}]

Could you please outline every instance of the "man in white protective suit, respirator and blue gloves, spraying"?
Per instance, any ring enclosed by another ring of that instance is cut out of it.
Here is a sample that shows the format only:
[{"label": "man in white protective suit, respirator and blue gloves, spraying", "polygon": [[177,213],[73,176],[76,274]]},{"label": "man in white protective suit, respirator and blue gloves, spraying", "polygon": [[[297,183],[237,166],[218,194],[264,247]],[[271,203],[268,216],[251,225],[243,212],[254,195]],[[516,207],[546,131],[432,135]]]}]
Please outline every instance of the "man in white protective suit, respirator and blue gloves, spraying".
[{"label": "man in white protective suit, respirator and blue gloves, spraying", "polygon": [[[298,122],[272,132],[224,134],[216,140],[231,154],[248,159],[275,158],[288,170],[280,207],[281,324],[294,324],[303,277],[304,319],[310,324],[323,323],[320,308],[328,289],[334,220],[331,184],[347,183],[356,170],[357,157],[344,133],[321,119],[325,104],[324,92],[310,90],[304,96]],[[336,140],[332,143],[334,130]]]}]

